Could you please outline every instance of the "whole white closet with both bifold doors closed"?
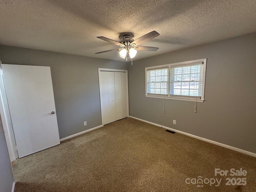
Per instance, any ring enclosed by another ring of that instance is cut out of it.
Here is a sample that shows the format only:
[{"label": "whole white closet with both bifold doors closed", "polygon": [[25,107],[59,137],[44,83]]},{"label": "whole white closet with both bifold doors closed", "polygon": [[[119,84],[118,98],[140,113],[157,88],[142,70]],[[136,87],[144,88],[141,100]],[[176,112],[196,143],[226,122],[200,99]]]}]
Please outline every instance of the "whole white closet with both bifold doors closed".
[{"label": "whole white closet with both bifold doors closed", "polygon": [[99,70],[102,124],[128,116],[127,72]]}]

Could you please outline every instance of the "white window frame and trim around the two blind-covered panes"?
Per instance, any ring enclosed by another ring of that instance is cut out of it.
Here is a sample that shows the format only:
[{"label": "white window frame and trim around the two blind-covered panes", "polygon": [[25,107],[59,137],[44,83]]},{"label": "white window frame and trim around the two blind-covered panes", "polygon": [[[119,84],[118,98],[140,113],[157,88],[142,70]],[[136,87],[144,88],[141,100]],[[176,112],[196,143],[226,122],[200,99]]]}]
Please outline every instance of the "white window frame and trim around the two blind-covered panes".
[{"label": "white window frame and trim around the two blind-covered panes", "polygon": [[[178,63],[172,63],[172,64],[166,64],[166,65],[159,65],[159,66],[152,66],[152,67],[146,67],[145,68],[145,85],[146,85],[146,97],[152,97],[152,98],[164,98],[164,99],[173,99],[173,100],[185,100],[185,101],[193,101],[193,102],[204,102],[204,89],[205,89],[205,77],[206,77],[206,62],[207,58],[204,59],[198,59],[198,60],[192,60],[192,61],[185,61],[185,62],[178,62]],[[196,64],[203,64],[202,66],[202,93],[201,98],[193,98],[193,96],[170,96],[170,88],[171,88],[171,68],[173,67],[182,67],[182,66],[191,66]],[[168,95],[165,94],[150,94],[147,93],[147,70],[153,70],[153,69],[159,69],[168,67]]]}]

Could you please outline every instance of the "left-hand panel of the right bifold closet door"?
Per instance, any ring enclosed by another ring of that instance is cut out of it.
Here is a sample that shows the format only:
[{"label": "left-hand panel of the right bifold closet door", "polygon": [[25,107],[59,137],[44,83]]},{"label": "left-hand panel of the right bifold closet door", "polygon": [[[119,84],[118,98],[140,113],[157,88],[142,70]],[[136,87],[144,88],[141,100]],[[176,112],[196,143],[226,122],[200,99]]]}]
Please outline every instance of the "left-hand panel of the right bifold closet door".
[{"label": "left-hand panel of the right bifold closet door", "polygon": [[115,94],[116,94],[116,120],[122,119],[122,72],[114,72],[115,74]]}]

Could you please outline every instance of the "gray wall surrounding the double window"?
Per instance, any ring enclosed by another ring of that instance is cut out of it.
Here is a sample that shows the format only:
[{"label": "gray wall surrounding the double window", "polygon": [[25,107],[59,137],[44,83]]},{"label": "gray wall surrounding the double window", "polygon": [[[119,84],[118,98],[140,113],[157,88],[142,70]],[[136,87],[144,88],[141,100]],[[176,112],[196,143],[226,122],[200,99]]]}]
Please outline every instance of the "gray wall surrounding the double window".
[{"label": "gray wall surrounding the double window", "polygon": [[[145,97],[145,67],[207,58],[205,102]],[[256,153],[256,33],[136,60],[130,116]],[[172,124],[176,120],[176,125]]]}]

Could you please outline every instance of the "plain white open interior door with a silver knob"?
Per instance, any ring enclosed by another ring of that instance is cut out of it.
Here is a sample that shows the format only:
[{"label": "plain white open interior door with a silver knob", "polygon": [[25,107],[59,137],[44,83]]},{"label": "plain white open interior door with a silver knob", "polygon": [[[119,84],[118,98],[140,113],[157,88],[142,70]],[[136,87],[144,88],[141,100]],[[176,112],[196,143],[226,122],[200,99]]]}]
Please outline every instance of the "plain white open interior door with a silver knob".
[{"label": "plain white open interior door with a silver knob", "polygon": [[19,158],[60,144],[50,67],[2,70]]}]

